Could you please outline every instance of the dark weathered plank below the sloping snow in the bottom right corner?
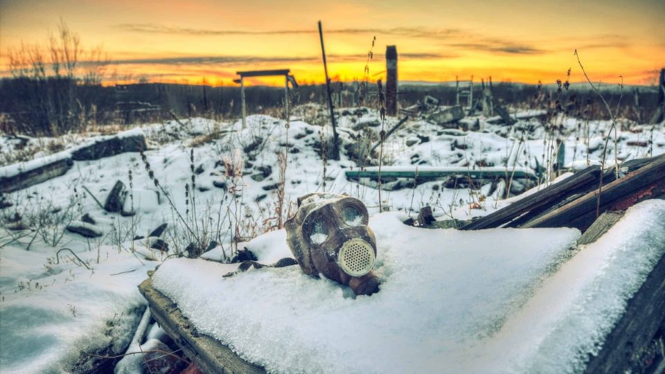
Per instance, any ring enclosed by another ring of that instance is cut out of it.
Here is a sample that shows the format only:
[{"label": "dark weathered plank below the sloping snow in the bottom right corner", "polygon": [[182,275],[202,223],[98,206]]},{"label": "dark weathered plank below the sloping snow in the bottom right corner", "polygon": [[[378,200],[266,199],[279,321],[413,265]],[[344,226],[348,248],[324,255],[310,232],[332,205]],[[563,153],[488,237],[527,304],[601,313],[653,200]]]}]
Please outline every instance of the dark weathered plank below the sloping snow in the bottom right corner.
[{"label": "dark weathered plank below the sloping snow in the bottom right corner", "polygon": [[[661,244],[664,245],[664,244]],[[632,373],[636,353],[654,339],[665,322],[665,256],[660,258],[637,293],[628,301],[626,312],[605,337],[603,348],[589,357],[585,373]],[[653,371],[651,371],[653,373]]]}]

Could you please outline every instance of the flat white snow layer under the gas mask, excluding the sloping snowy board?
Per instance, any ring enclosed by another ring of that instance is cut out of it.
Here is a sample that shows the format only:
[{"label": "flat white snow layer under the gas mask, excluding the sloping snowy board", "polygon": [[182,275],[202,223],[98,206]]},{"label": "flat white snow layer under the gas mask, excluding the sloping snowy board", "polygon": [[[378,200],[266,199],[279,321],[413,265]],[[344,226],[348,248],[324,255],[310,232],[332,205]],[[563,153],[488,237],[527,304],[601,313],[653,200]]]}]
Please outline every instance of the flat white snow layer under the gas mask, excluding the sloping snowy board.
[{"label": "flat white snow layer under the gas mask, excluding the sloping snowy board", "polygon": [[199,332],[272,372],[418,372],[442,362],[452,371],[528,301],[579,236],[423,230],[398,213],[375,215],[370,225],[382,281],[373,296],[354,298],[298,266],[223,278],[218,264],[190,259],[164,262],[153,285]]}]

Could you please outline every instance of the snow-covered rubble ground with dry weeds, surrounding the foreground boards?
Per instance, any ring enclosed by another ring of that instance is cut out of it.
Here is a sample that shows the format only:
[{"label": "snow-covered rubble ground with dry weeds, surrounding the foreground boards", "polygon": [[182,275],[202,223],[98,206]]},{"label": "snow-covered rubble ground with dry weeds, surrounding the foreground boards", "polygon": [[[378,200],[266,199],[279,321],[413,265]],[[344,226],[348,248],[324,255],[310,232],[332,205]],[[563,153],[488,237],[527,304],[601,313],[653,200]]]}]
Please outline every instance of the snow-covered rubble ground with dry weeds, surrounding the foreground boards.
[{"label": "snow-covered rubble ground with dry weeds, surrounding the foreground boards", "polygon": [[[348,112],[339,119],[342,145],[357,143],[358,134],[368,139],[378,138],[381,123],[375,112],[362,111],[360,116],[355,109]],[[505,167],[510,171],[513,167],[533,169],[536,160],[539,165],[547,166],[551,164],[548,160],[556,159],[552,152],[544,152],[551,150],[552,143],[548,140],[547,124],[531,119],[506,127],[491,125],[482,117],[464,121],[473,125],[476,119],[480,130],[468,132],[444,129],[422,120],[409,121],[384,145],[384,165],[454,166],[465,170]],[[600,158],[601,136],[609,129],[607,122],[575,118],[556,121],[563,129],[562,137],[567,139],[566,163],[576,161],[576,165],[585,166],[587,148],[588,162]],[[61,177],[8,194],[6,201],[13,206],[0,210],[3,372],[68,371],[85,356],[81,352],[94,353],[109,344],[123,346],[132,339],[143,315],[145,302],[136,286],[145,279],[146,271],[169,256],[187,254],[190,242],[205,244],[205,249],[211,249],[208,256],[228,261],[235,248],[231,244],[234,236],[247,241],[274,229],[278,224],[276,186],[281,181],[278,155],[286,148],[283,178],[287,204],[283,216],[287,215],[288,207],[293,211],[289,203],[297,197],[324,189],[359,197],[371,213],[378,213],[378,190],[346,180],[344,171],[358,168],[346,151],[342,152],[341,160],[326,161],[324,177],[320,132],[323,130],[325,137],[330,130],[310,124],[316,122],[304,115],[294,116],[287,129],[285,121],[257,115],[248,118],[245,129],[239,121],[218,123],[202,118],[143,125],[141,131],[150,147],[145,160],[158,185],[149,177],[141,156],[127,153],[98,161],[77,161]],[[388,129],[395,123],[395,118],[387,118],[384,127]],[[17,148],[21,142],[2,136],[0,148],[3,155],[14,154],[13,159],[28,160],[67,151],[87,137],[94,134],[31,139],[28,144],[61,145],[41,146],[36,154],[30,151],[16,155],[21,152]],[[665,152],[662,124],[652,127],[622,123],[618,139],[619,159]],[[610,145],[611,162],[612,141]],[[26,166],[21,165],[0,167],[0,176]],[[132,198],[127,198],[125,208],[135,215],[107,213],[91,197],[90,193],[103,204],[117,180],[130,190]],[[382,213],[377,220],[395,224],[397,215],[414,215],[428,204],[435,215],[468,219],[486,215],[515,199],[505,199],[506,186],[501,183],[450,187],[446,182],[430,181],[415,187],[407,184],[407,188],[400,190],[384,190],[382,206],[398,213]],[[96,222],[94,229],[102,233],[100,237],[87,239],[63,231],[73,221],[82,220],[86,213]],[[168,226],[161,238],[169,249],[151,249],[154,239],[146,237],[163,223]],[[136,237],[143,238],[132,240]],[[269,232],[256,240],[284,244],[282,231]],[[267,244],[265,253],[261,252],[256,240],[250,247],[254,247],[252,251],[256,250],[260,259],[274,262],[283,256]],[[240,249],[242,245],[239,244]],[[56,258],[55,253],[62,248],[71,249],[78,258],[69,251],[61,251]],[[178,261],[189,260],[164,262],[163,266]],[[533,274],[545,262],[534,264]],[[386,265],[384,277],[390,271]],[[112,348],[105,354],[119,353]]]}]

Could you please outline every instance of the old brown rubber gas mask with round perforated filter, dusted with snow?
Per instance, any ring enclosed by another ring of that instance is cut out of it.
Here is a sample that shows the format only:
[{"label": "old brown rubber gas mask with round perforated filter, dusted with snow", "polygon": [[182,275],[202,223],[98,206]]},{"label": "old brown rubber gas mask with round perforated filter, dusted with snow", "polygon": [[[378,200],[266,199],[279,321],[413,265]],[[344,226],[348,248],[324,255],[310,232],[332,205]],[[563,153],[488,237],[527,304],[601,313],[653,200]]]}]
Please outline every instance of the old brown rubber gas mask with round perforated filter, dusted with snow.
[{"label": "old brown rubber gas mask with round perforated filter, dusted with snow", "polygon": [[305,274],[348,285],[357,295],[378,292],[372,271],[376,239],[359,199],[332,193],[299,197],[296,215],[285,223],[287,242]]}]

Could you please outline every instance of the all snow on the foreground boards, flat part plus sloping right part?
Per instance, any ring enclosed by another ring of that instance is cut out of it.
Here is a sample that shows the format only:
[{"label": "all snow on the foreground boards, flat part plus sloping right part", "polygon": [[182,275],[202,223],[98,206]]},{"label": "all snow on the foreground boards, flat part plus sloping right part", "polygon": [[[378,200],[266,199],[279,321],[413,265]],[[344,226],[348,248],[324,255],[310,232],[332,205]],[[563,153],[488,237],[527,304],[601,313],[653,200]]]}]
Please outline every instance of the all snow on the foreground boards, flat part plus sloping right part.
[{"label": "all snow on the foreground boards, flat part plus sloping right part", "polygon": [[[222,278],[223,266],[188,259],[165,262],[153,285],[267,371],[575,372],[665,252],[662,200],[631,208],[572,258],[576,229],[425,230],[395,213],[370,224],[383,283],[373,296],[296,266]],[[271,258],[290,256],[281,240],[272,251],[257,240]]]}]

